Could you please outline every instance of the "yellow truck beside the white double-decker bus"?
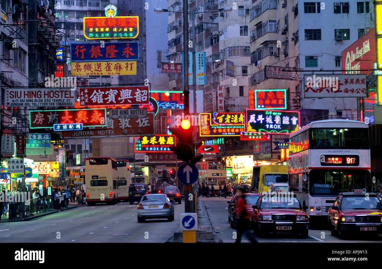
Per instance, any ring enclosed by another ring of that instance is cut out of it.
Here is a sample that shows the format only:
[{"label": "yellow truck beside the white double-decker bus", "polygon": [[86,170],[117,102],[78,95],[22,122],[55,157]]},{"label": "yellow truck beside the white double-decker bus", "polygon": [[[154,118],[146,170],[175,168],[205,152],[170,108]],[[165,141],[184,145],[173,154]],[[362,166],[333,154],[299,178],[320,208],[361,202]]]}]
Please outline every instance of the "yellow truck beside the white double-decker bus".
[{"label": "yellow truck beside the white double-decker bus", "polygon": [[252,171],[252,193],[269,191],[272,183],[288,183],[288,165],[255,165]]}]

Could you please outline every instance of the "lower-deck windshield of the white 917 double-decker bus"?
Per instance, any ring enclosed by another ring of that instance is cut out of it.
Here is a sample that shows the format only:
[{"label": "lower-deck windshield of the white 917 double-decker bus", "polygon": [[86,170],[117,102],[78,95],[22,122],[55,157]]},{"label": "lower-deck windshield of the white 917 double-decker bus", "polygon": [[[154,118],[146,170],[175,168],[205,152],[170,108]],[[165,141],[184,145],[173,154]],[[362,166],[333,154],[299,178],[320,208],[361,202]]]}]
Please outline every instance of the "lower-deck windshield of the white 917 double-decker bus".
[{"label": "lower-deck windshield of the white 917 double-decker bus", "polygon": [[309,173],[309,193],[317,195],[338,195],[354,189],[370,189],[368,171],[312,170]]}]

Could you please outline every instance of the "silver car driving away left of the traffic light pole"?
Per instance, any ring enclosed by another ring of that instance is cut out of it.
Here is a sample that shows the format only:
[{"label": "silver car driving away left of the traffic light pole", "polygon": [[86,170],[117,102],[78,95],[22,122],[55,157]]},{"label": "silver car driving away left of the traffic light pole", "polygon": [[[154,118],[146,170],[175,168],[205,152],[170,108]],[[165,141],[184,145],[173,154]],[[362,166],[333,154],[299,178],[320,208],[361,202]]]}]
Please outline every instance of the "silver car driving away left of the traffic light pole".
[{"label": "silver car driving away left of the traffic light pole", "polygon": [[138,222],[145,219],[174,220],[174,206],[166,194],[146,194],[138,204]]}]

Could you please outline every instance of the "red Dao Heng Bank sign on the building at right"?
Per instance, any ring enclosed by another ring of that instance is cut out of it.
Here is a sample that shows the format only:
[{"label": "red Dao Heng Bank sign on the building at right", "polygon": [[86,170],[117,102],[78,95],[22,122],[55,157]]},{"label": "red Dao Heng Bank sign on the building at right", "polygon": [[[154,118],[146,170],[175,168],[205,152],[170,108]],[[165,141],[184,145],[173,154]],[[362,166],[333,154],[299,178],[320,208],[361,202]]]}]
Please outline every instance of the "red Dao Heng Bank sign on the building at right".
[{"label": "red Dao Heng Bank sign on the building at right", "polygon": [[344,74],[371,73],[371,71],[359,71],[372,69],[376,62],[376,31],[370,29],[356,42],[342,52],[342,69]]}]

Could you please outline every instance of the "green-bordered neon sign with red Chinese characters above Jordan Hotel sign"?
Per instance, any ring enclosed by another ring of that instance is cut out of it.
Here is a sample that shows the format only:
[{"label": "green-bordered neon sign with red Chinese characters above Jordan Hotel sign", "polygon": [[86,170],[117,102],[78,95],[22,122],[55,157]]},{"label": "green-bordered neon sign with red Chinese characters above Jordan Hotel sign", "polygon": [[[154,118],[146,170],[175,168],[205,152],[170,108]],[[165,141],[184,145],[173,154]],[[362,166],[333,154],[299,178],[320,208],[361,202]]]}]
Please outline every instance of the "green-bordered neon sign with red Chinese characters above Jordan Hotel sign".
[{"label": "green-bordered neon sign with red Chinese characters above Jordan Hotel sign", "polygon": [[54,124],[76,125],[85,127],[106,126],[106,109],[66,109],[66,110],[31,110],[29,128],[53,128]]}]

